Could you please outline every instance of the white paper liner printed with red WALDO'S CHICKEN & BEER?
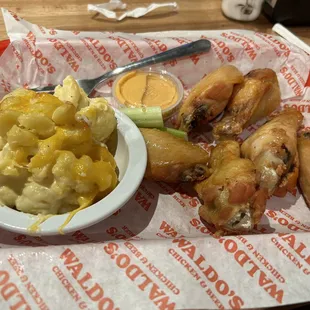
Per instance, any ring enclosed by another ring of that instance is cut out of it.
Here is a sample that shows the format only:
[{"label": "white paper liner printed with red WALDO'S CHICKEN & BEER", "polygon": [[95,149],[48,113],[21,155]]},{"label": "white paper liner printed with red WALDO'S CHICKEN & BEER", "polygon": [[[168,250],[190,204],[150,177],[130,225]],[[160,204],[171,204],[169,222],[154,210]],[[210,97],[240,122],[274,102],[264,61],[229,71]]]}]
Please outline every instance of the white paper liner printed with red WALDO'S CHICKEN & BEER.
[{"label": "white paper liner printed with red WALDO'S CHICKEN & BEER", "polygon": [[[310,124],[309,56],[279,37],[241,30],[70,32],[3,14],[12,43],[0,58],[2,95],[58,84],[68,74],[94,78],[208,38],[209,53],[157,67],[186,90],[225,63],[244,74],[271,68],[282,105],[302,111]],[[97,89],[110,101],[111,83]],[[196,140],[208,146],[208,136]],[[238,309],[310,300],[310,211],[298,191],[270,199],[245,236],[214,238],[199,205],[185,185],[144,181],[122,209],[83,231],[42,238],[1,231],[1,309]]]}]

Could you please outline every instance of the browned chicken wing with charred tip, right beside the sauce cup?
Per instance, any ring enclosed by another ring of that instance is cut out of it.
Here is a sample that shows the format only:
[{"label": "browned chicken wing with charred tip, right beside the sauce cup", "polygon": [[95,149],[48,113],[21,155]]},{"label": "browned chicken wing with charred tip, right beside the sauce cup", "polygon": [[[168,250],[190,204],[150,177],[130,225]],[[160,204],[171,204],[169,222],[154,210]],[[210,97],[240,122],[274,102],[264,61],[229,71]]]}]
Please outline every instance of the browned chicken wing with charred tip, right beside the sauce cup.
[{"label": "browned chicken wing with charred tip, right beside the sauce cup", "polygon": [[209,73],[191,90],[178,115],[178,125],[184,131],[195,129],[223,112],[235,84],[243,82],[242,73],[225,65]]}]

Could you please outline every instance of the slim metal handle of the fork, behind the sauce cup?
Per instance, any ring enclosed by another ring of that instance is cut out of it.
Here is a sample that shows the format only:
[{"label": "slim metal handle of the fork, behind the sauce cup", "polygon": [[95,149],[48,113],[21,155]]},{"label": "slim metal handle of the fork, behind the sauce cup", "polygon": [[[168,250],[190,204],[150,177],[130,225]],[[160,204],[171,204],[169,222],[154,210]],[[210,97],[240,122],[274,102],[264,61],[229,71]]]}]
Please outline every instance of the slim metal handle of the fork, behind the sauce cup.
[{"label": "slim metal handle of the fork, behind the sauce cup", "polygon": [[190,55],[197,54],[197,53],[208,52],[210,48],[211,48],[211,43],[209,40],[206,40],[206,39],[197,40],[191,43],[181,45],[176,48],[172,48],[163,53],[159,53],[154,56],[150,56],[147,58],[143,58],[139,61],[129,63],[123,67],[118,67],[110,72],[103,74],[102,76],[99,76],[93,79],[92,82],[96,84],[97,86],[98,84],[116,75],[119,75],[119,74],[122,74],[128,71],[132,71],[132,70],[145,68],[147,66],[166,62],[169,60],[174,60],[177,58],[190,56]]}]

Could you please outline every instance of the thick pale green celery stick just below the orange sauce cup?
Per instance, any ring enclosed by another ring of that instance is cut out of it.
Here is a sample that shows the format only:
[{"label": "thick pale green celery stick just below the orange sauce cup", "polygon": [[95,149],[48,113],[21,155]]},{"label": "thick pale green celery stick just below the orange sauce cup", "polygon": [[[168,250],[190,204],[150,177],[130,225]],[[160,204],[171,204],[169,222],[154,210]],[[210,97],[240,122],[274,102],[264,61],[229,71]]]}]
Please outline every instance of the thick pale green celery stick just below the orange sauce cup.
[{"label": "thick pale green celery stick just below the orange sauce cup", "polygon": [[120,109],[120,111],[126,114],[138,127],[164,127],[164,120],[160,107],[123,108]]}]

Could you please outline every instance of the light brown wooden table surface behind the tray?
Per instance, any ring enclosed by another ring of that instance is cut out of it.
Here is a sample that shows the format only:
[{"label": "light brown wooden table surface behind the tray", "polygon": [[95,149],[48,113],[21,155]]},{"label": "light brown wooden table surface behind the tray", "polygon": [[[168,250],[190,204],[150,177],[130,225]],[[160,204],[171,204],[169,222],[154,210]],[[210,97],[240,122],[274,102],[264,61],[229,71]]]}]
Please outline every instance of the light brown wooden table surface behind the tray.
[{"label": "light brown wooden table surface behind the tray", "polygon": [[[109,21],[87,11],[88,3],[104,2],[108,0],[0,0],[0,7],[14,11],[31,23],[66,30],[148,32],[234,28],[270,33],[272,27],[272,23],[263,15],[249,23],[225,18],[221,12],[221,0],[177,0],[178,12],[139,19],[127,18],[120,22]],[[150,3],[146,0],[124,0],[124,2],[130,3],[130,6],[145,6],[146,3]],[[171,0],[157,2],[171,2]],[[289,27],[289,29],[310,44],[310,27]],[[6,31],[1,18],[0,40],[5,38]]]}]

